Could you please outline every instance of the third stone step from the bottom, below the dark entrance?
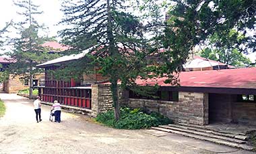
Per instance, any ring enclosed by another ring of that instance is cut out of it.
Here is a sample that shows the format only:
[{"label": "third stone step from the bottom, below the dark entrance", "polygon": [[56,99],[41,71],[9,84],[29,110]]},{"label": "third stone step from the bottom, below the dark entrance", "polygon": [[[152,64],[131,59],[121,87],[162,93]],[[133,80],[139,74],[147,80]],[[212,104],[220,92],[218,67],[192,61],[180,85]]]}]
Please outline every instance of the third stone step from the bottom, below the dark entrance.
[{"label": "third stone step from the bottom, below the dark entrance", "polygon": [[222,136],[222,137],[229,137],[231,139],[239,139],[239,140],[243,140],[243,141],[247,141],[248,137],[245,135],[237,135],[237,134],[232,134],[232,133],[221,133],[218,132],[217,130],[209,130],[209,129],[202,129],[202,128],[197,128],[197,127],[189,127],[189,126],[184,126],[184,125],[174,125],[174,124],[170,124],[169,126],[171,127],[177,127],[180,129],[189,129],[189,130],[193,130],[193,131],[199,131],[199,132],[203,132],[203,133],[211,133],[213,135],[218,135],[218,136]]}]

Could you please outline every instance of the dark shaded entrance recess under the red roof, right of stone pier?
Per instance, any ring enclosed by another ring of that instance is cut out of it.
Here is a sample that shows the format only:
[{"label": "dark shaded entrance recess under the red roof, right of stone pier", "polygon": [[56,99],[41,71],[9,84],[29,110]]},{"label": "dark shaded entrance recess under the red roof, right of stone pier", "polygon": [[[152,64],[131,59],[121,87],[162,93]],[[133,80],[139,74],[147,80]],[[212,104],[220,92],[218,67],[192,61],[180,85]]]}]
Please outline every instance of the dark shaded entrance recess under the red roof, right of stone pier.
[{"label": "dark shaded entrance recess under the red roof, right of stone pier", "polygon": [[237,100],[236,94],[210,94],[210,123],[256,125],[256,103]]}]

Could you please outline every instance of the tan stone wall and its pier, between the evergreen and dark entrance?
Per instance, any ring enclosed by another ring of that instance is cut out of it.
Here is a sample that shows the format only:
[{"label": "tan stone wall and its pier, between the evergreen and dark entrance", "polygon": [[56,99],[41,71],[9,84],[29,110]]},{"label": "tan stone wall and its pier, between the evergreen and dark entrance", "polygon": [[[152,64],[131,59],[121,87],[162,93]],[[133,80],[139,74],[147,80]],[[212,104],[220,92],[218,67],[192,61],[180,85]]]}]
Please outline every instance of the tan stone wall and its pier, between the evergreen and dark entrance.
[{"label": "tan stone wall and its pier, between the evergreen and dark entrance", "polygon": [[208,94],[179,92],[179,102],[129,98],[129,106],[159,112],[174,122],[208,124]]}]

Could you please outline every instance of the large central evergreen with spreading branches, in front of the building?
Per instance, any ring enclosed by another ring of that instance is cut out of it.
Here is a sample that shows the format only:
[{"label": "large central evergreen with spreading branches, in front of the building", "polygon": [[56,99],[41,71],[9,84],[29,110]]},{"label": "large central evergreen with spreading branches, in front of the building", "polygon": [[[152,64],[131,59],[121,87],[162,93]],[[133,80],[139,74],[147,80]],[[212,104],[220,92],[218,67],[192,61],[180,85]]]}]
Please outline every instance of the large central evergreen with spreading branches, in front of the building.
[{"label": "large central evergreen with spreading branches, in front of the building", "polygon": [[77,70],[72,71],[83,74],[97,67],[97,73],[109,78],[116,120],[120,117],[118,81],[124,88],[133,85],[138,75],[145,76],[148,54],[142,25],[125,11],[127,7],[123,4],[124,0],[63,0],[62,23],[70,27],[61,31],[63,41],[73,49],[92,47],[84,61],[75,64]]}]

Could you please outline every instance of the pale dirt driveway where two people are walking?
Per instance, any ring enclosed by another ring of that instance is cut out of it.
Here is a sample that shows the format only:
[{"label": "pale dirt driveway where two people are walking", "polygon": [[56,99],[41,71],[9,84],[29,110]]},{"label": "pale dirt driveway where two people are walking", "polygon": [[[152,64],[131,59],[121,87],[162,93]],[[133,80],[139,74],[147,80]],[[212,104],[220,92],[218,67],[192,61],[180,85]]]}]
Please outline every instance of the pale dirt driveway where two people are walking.
[{"label": "pale dirt driveway where two people are walking", "polygon": [[[61,112],[49,121],[51,106],[42,106],[36,123],[32,100],[0,94],[7,110],[0,119],[0,153],[251,153],[148,130],[119,130],[92,122],[82,114]],[[217,147],[216,147],[217,146]]]}]

